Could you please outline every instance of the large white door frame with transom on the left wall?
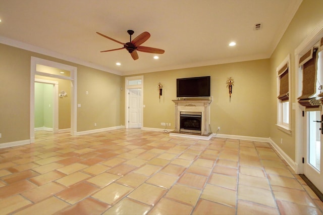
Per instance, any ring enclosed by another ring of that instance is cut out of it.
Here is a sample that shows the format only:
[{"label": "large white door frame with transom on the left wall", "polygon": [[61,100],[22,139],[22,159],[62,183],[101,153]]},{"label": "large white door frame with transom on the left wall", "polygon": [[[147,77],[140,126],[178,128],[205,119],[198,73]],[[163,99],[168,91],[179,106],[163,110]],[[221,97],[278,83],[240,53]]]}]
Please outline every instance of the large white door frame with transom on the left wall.
[{"label": "large white door frame with transom on the left wall", "polygon": [[[44,65],[48,67],[58,68],[70,71],[70,77],[53,75],[36,71],[36,65]],[[71,81],[71,135],[75,136],[77,132],[77,68],[49,61],[41,58],[31,57],[30,62],[30,142],[35,142],[35,75],[66,79]],[[57,96],[58,97],[58,96]]]}]

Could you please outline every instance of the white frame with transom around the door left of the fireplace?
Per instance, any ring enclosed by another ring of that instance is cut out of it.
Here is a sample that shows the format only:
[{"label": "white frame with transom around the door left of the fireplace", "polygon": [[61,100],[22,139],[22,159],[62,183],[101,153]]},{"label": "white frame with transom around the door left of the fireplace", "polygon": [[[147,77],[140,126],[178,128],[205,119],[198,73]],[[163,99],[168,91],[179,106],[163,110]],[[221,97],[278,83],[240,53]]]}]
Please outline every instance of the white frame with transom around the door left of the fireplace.
[{"label": "white frame with transom around the door left of the fireplace", "polygon": [[[141,80],[141,84],[130,85],[129,81]],[[143,127],[143,75],[125,78],[125,126],[129,128],[129,89],[141,89],[141,128]]]}]

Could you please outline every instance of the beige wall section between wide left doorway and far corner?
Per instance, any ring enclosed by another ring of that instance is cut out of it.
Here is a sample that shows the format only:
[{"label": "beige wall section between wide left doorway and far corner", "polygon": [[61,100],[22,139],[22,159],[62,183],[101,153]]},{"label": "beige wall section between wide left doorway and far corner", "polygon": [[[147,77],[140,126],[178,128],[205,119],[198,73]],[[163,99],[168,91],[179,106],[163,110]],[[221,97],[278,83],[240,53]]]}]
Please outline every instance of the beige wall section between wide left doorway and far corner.
[{"label": "beige wall section between wide left doorway and far corner", "polygon": [[77,131],[120,126],[121,81],[115,74],[78,67]]}]

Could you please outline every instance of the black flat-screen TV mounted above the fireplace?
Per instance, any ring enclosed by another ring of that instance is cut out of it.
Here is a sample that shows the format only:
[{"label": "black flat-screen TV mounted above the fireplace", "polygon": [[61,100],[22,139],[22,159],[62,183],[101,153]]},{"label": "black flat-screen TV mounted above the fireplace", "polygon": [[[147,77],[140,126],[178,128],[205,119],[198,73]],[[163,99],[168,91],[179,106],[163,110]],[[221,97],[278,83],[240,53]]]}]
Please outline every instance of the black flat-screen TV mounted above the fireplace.
[{"label": "black flat-screen TV mounted above the fireplace", "polygon": [[210,76],[177,79],[177,97],[210,96]]}]

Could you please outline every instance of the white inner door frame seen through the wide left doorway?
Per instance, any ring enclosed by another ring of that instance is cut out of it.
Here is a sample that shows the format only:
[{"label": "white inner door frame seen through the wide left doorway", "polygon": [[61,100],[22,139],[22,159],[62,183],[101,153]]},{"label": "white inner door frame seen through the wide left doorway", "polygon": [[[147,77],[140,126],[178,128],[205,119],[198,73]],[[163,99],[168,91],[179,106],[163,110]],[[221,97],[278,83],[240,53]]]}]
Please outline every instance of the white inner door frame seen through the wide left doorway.
[{"label": "white inner door frame seen through the wide left doorway", "polygon": [[53,113],[52,132],[59,132],[59,82],[35,78],[35,83],[50,84],[53,86]]}]

